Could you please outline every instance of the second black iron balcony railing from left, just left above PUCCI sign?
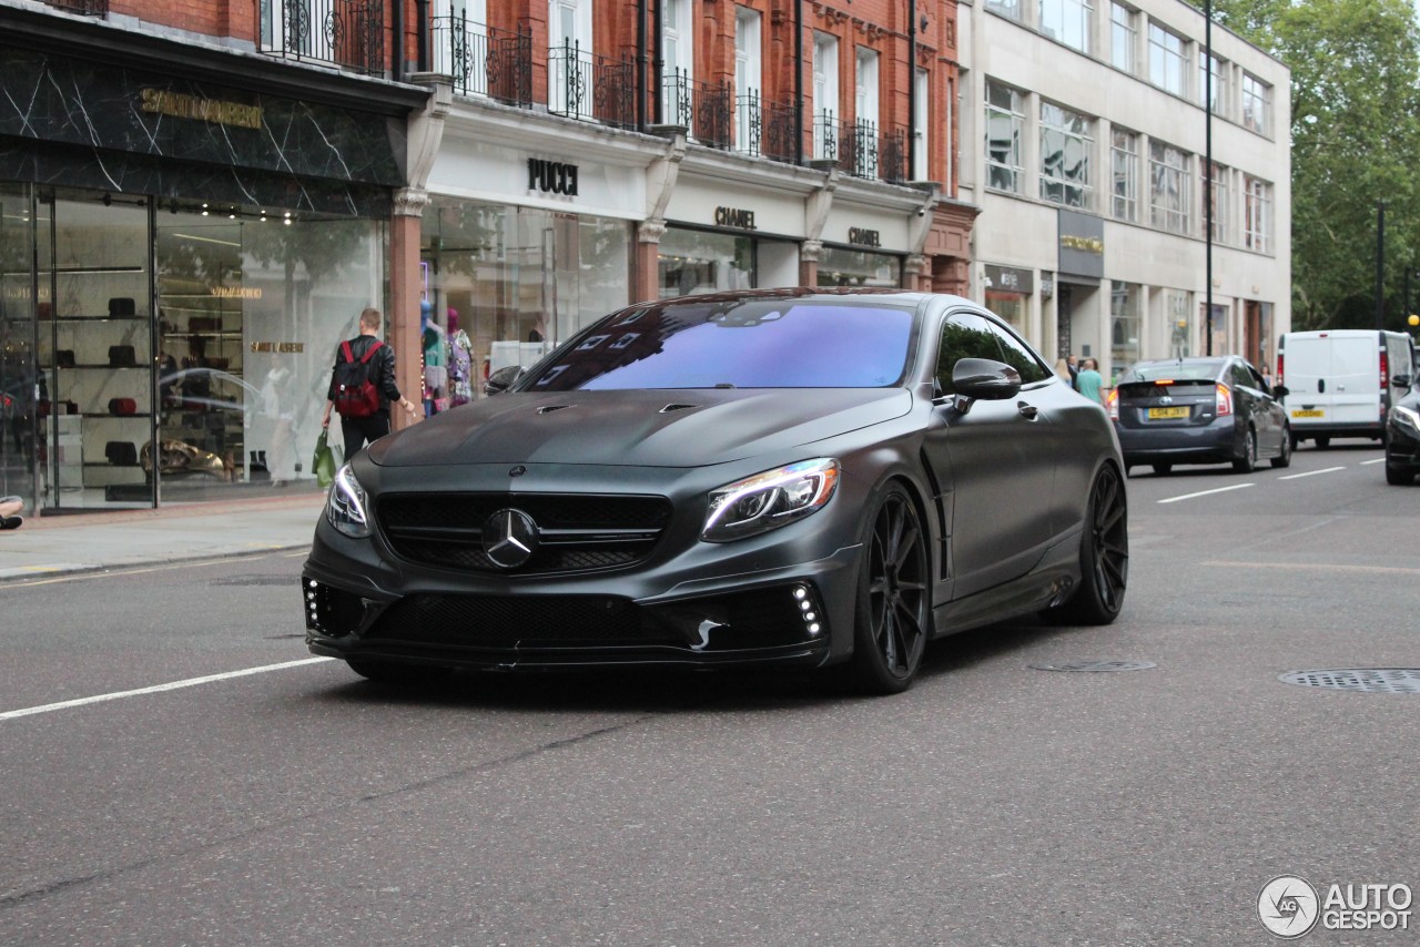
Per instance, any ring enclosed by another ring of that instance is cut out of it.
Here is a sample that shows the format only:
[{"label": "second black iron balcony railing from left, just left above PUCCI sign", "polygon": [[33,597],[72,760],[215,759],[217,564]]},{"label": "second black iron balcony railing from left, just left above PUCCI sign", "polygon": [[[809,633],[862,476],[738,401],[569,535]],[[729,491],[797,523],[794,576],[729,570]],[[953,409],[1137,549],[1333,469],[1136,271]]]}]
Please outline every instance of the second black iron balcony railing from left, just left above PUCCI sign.
[{"label": "second black iron balcony railing from left, just left above PUCCI sign", "polygon": [[435,17],[435,71],[453,78],[462,95],[486,95],[510,105],[532,104],[532,31],[494,30],[469,17]]}]

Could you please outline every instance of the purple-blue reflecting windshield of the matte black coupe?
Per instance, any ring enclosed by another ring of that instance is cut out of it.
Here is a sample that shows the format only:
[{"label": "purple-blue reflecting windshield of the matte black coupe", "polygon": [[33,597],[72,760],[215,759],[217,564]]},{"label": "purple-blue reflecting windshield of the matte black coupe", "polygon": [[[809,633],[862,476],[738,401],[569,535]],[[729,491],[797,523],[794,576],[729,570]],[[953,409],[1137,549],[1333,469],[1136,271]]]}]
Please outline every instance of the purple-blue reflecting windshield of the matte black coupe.
[{"label": "purple-blue reflecting windshield of the matte black coupe", "polygon": [[746,300],[628,310],[574,339],[524,392],[635,388],[888,388],[913,310],[862,300]]}]

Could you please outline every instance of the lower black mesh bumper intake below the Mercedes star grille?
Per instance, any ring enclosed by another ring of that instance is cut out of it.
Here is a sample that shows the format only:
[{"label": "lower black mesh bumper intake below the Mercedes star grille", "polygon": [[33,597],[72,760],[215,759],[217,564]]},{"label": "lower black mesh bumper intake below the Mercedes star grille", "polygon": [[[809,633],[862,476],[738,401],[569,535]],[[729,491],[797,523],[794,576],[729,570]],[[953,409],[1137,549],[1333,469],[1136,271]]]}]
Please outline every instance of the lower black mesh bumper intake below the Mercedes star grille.
[{"label": "lower black mesh bumper intake below the Mercedes star grille", "polygon": [[680,643],[633,602],[606,595],[413,595],[364,637],[467,647]]}]

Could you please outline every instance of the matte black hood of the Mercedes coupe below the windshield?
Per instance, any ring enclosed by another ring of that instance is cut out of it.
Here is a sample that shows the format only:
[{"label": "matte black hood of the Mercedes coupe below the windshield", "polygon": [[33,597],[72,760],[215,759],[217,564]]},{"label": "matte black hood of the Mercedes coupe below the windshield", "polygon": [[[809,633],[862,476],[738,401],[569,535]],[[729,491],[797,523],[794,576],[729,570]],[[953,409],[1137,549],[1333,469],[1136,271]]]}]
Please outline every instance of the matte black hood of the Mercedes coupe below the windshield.
[{"label": "matte black hood of the Mercedes coupe below the windshield", "polygon": [[369,456],[386,467],[697,467],[834,437],[910,406],[900,388],[506,393],[382,437]]}]

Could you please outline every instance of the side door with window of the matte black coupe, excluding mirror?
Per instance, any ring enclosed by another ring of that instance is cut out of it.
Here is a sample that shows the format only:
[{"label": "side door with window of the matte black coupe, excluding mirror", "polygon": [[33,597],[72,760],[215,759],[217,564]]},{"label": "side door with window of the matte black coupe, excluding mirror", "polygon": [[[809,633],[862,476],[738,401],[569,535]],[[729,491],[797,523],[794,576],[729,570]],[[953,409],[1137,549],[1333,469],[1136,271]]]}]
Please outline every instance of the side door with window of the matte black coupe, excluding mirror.
[{"label": "side door with window of the matte black coupe, excluding mirror", "polygon": [[[951,368],[963,358],[1025,369],[1025,383],[1014,398],[970,402],[963,412],[951,385]],[[1042,402],[1065,388],[1024,345],[976,312],[943,322],[936,382],[941,398],[924,450],[946,494],[947,568],[958,599],[1025,575],[1048,545],[1058,430]]]}]

